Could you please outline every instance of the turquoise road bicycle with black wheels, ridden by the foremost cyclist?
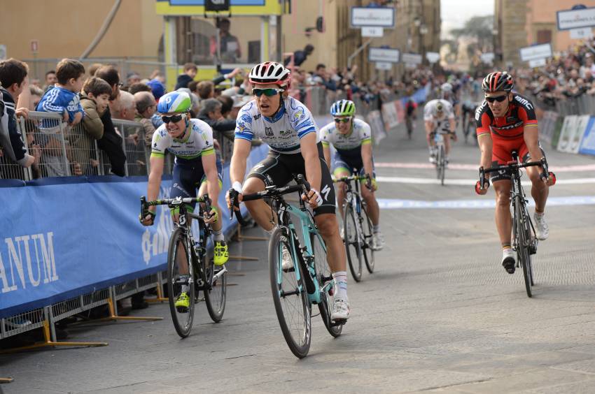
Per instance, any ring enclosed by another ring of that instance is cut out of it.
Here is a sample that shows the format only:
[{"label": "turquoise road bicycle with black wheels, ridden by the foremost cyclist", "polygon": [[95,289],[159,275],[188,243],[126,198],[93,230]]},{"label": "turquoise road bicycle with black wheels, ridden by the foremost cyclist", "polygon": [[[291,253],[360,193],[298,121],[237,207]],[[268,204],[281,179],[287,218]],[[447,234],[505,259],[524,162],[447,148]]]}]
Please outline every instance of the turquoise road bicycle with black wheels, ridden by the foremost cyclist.
[{"label": "turquoise road bicycle with black wheels, ridden by the foremost cyclist", "polygon": [[[341,335],[346,320],[330,319],[335,279],[328,268],[326,245],[318,233],[311,211],[302,198],[299,198],[299,207],[288,204],[283,198],[286,194],[309,191],[303,175],[297,175],[296,182],[296,185],[286,187],[266,187],[264,191],[244,195],[243,201],[266,198],[271,203],[272,217],[276,217],[269,240],[269,279],[273,303],[289,349],[297,358],[304,358],[310,349],[312,305],[318,305],[323,323],[333,337]],[[233,189],[230,190],[230,202],[232,207],[239,207],[237,191]],[[241,223],[243,219],[239,210],[235,210],[235,214]],[[297,225],[303,236],[303,245],[292,217],[299,222]],[[283,257],[291,261],[291,268],[283,269]]]}]

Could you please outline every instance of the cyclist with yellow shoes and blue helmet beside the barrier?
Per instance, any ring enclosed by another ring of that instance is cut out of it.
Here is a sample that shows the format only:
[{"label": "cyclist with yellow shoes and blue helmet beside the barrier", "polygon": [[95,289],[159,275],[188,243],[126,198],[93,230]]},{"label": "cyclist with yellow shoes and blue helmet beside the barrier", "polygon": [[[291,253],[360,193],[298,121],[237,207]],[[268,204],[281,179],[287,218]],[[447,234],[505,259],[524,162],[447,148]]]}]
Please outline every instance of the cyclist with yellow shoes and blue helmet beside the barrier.
[{"label": "cyclist with yellow shoes and blue helmet beside the barrier", "polygon": [[[218,220],[221,212],[218,206],[221,191],[221,161],[216,159],[211,126],[202,120],[190,119],[191,105],[190,96],[186,92],[171,92],[162,96],[159,101],[157,110],[162,114],[163,124],[155,130],[151,142],[151,173],[148,176],[147,198],[148,200],[158,198],[165,153],[167,151],[173,154],[176,161],[169,198],[196,197],[197,187],[202,184],[201,192],[204,192],[206,187],[211,198],[212,210],[209,219],[205,221],[213,228],[214,263],[223,265],[228,261],[229,252],[223,237],[221,220]],[[193,212],[194,207],[193,204],[186,208],[189,212]],[[149,207],[148,214],[139,218],[144,226],[153,224],[155,210],[155,206]],[[172,210],[172,217],[174,221],[178,220],[176,210]],[[180,262],[181,275],[188,273],[188,271],[183,272],[184,268],[188,270],[187,264],[188,262]],[[182,286],[180,296],[176,300],[176,309],[181,313],[186,312],[190,302],[188,286]]]}]

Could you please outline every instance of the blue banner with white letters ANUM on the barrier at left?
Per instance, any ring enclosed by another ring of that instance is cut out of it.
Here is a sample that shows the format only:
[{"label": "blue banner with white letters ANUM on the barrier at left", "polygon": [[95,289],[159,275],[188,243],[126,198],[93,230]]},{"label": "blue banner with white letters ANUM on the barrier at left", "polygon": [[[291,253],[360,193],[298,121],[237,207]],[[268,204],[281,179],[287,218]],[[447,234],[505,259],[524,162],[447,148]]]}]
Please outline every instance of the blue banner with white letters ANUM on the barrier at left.
[{"label": "blue banner with white letters ANUM on the barrier at left", "polygon": [[[253,149],[247,168],[267,150]],[[161,197],[171,184],[163,180]],[[1,188],[0,317],[164,269],[173,224],[167,207],[158,207],[154,226],[139,223],[146,188],[146,177],[57,177]],[[229,188],[225,166],[223,191]],[[227,232],[235,223],[223,192],[219,206]]]}]

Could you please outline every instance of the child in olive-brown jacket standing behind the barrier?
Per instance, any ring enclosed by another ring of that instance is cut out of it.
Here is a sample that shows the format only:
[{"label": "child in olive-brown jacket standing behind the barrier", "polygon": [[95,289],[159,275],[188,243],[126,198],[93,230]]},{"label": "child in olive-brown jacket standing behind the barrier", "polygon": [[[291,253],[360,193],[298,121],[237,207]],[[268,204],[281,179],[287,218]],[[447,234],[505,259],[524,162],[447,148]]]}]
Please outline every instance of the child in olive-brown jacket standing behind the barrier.
[{"label": "child in olive-brown jacket standing behind the barrier", "polygon": [[99,164],[94,141],[104,136],[101,117],[106,111],[111,94],[109,83],[97,77],[89,78],[80,92],[80,104],[85,110],[83,127],[71,129],[69,142],[73,159],[80,163],[83,175],[97,175],[93,170]]}]

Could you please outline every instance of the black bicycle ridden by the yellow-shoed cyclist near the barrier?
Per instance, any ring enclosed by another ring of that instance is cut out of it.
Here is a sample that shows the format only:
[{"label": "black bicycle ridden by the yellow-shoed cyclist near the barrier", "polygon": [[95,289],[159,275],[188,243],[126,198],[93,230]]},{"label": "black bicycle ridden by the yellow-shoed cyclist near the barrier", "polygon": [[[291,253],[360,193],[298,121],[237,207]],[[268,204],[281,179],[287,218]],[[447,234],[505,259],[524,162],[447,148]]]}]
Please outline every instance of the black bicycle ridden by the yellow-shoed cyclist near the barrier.
[{"label": "black bicycle ridden by the yellow-shoed cyclist near the barrier", "polygon": [[[186,209],[187,204],[193,203],[198,203],[199,214],[188,212]],[[142,196],[142,217],[146,217],[148,207],[153,205],[167,205],[170,209],[179,210],[179,220],[174,224],[167,249],[167,295],[174,328],[180,337],[185,338],[190,335],[193,326],[194,305],[200,300],[200,291],[207,304],[209,316],[215,323],[221,321],[225,311],[227,269],[225,265],[214,264],[211,248],[214,245],[213,231],[209,224],[204,223],[208,212],[211,212],[211,200],[207,195],[202,198],[177,197],[155,201],[147,201],[145,196]],[[195,242],[193,237],[190,218],[198,220],[198,242]],[[190,304],[188,308],[178,310],[175,304],[183,289],[190,293]]]}]

